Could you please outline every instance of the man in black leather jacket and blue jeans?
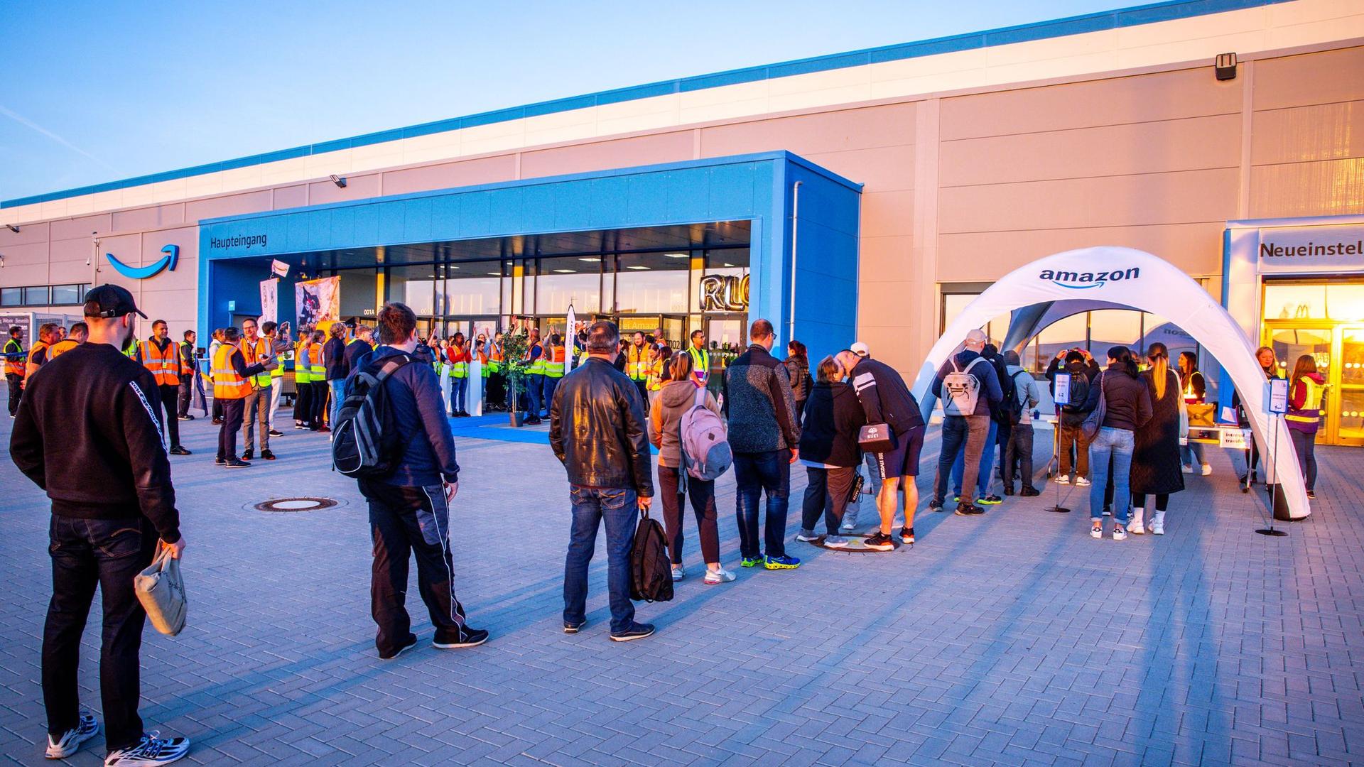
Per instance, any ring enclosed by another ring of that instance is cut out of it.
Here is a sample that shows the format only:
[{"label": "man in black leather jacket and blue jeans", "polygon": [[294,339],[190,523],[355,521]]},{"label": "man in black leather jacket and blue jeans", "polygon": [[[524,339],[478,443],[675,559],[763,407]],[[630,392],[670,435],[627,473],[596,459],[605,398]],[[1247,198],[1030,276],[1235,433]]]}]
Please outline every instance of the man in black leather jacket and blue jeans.
[{"label": "man in black leather jacket and blue jeans", "polygon": [[644,399],[614,367],[619,344],[614,322],[599,319],[588,329],[588,359],[559,381],[550,403],[550,446],[567,471],[573,501],[563,633],[577,633],[587,622],[588,564],[606,523],[611,640],[630,641],[653,633],[651,624],[634,621],[630,602],[636,509],[648,510],[653,500],[653,472]]}]

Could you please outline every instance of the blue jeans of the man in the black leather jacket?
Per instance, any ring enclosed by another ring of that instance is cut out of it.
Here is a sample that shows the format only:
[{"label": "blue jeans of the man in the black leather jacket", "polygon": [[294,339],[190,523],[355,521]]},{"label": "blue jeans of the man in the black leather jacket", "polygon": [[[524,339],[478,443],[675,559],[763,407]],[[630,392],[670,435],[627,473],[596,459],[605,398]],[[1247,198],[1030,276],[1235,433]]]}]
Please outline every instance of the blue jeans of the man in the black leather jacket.
[{"label": "blue jeans of the man in the black leather jacket", "polygon": [[587,620],[588,562],[596,549],[596,531],[606,521],[606,585],[611,600],[611,633],[634,625],[634,603],[630,602],[630,549],[634,546],[634,524],[638,521],[638,501],[634,490],[569,486],[573,500],[573,532],[569,555],[563,562],[563,622],[581,624]]}]

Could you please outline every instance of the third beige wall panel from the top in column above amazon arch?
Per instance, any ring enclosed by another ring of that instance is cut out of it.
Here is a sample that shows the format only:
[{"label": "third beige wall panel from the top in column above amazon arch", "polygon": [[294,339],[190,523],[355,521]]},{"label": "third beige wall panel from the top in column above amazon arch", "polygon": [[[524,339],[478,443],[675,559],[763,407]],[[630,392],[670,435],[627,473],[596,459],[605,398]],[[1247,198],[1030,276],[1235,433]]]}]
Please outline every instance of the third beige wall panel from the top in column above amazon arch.
[{"label": "third beige wall panel from the top in column above amazon arch", "polygon": [[938,194],[938,231],[1003,232],[1226,221],[1236,217],[1237,183],[1239,171],[1225,168],[952,187]]}]

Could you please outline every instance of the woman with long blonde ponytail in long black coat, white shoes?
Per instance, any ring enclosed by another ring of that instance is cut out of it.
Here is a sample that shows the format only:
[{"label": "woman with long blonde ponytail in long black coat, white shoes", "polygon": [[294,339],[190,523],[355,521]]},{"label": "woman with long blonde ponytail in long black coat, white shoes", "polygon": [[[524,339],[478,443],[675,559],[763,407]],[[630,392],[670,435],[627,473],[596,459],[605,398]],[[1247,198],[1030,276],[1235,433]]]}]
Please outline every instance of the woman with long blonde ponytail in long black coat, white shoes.
[{"label": "woman with long blonde ponytail in long black coat, white shoes", "polygon": [[1133,535],[1146,532],[1143,516],[1146,497],[1155,495],[1155,509],[1151,513],[1151,532],[1165,535],[1165,508],[1170,494],[1184,490],[1184,474],[1180,471],[1180,377],[1170,370],[1170,352],[1165,344],[1155,343],[1146,349],[1150,368],[1142,373],[1147,394],[1151,399],[1151,419],[1136,430],[1132,450],[1132,524]]}]

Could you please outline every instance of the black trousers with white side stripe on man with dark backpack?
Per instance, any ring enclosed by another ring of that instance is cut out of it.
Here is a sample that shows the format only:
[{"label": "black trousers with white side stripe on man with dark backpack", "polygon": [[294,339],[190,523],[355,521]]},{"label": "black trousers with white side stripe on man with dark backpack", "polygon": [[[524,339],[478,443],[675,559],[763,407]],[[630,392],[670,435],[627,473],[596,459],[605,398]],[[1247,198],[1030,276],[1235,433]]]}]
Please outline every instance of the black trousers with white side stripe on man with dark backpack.
[{"label": "black trousers with white side stripe on man with dark backpack", "polygon": [[370,580],[370,614],[379,626],[374,646],[389,654],[408,641],[408,558],[416,554],[417,591],[435,626],[435,640],[457,640],[464,625],[464,606],[454,596],[454,558],[450,555],[450,510],[445,487],[408,487],[360,480],[370,502],[370,538],[374,568]]}]

